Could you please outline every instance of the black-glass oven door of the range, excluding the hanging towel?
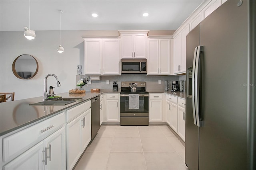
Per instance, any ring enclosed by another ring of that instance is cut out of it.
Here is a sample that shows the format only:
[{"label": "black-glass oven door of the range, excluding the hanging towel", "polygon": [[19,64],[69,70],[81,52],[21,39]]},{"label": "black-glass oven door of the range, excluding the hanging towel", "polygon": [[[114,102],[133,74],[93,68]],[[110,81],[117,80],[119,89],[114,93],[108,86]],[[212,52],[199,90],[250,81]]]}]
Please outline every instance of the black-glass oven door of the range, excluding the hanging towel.
[{"label": "black-glass oven door of the range, excluding the hanging towel", "polygon": [[120,117],[148,117],[148,94],[139,95],[139,108],[129,109],[129,94],[120,94]]}]

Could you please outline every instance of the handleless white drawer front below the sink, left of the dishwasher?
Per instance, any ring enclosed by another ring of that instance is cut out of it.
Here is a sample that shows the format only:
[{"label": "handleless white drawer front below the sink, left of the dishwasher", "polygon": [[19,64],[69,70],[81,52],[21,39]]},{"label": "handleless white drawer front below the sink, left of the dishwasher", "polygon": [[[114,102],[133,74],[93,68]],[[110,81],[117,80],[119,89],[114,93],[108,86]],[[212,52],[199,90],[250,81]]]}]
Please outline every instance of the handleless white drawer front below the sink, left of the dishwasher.
[{"label": "handleless white drawer front below the sink, left of the dishwasher", "polygon": [[72,109],[67,110],[67,122],[78,117],[80,114],[84,113],[86,110],[90,109],[91,101],[80,104]]}]

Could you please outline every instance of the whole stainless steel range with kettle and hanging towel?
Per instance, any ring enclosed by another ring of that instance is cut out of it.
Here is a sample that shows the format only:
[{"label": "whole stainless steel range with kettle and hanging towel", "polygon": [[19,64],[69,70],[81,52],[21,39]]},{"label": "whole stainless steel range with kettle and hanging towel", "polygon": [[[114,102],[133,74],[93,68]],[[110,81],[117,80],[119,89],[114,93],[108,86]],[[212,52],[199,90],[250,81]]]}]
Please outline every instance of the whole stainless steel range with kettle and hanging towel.
[{"label": "whole stainless steel range with kettle and hanging towel", "polygon": [[121,82],[120,125],[148,125],[146,82]]}]

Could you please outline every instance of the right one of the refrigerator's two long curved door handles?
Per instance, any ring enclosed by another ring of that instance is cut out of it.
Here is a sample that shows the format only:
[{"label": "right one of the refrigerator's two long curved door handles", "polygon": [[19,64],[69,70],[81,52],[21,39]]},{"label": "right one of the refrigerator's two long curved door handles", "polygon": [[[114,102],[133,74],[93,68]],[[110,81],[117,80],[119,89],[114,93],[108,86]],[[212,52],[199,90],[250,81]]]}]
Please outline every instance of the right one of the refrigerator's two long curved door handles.
[{"label": "right one of the refrigerator's two long curved door handles", "polygon": [[202,52],[202,46],[197,47],[196,53],[196,66],[195,66],[195,81],[194,81],[194,94],[195,94],[195,111],[196,111],[196,125],[200,127],[199,119],[199,92],[200,92],[200,52]]}]

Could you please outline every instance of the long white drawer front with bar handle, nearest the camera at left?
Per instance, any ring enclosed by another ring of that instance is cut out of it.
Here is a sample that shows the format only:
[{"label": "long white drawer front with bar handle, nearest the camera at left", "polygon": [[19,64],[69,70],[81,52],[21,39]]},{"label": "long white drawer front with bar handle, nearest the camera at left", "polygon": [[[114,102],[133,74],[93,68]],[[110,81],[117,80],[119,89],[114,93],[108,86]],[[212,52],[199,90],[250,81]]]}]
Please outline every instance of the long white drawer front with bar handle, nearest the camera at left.
[{"label": "long white drawer front with bar handle, nearest the camera at left", "polygon": [[62,112],[54,117],[46,119],[36,125],[32,125],[22,131],[14,133],[3,139],[3,160],[8,161],[18,154],[29,149],[37,141],[44,139],[47,135],[55,131],[66,123],[65,113]]}]

